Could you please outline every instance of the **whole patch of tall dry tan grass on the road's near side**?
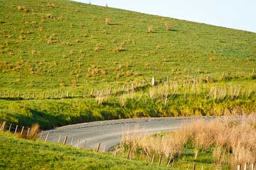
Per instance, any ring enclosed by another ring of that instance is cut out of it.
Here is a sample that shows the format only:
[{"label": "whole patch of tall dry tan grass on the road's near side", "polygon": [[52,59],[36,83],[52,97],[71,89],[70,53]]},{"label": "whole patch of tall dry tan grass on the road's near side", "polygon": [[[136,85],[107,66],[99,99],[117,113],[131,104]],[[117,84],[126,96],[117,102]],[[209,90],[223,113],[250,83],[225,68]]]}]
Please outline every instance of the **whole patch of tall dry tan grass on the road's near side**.
[{"label": "whole patch of tall dry tan grass on the road's near side", "polygon": [[122,145],[170,159],[179,157],[186,145],[198,153],[211,152],[217,165],[237,166],[256,162],[256,115],[184,122],[179,131],[148,136],[147,131],[125,131]]}]

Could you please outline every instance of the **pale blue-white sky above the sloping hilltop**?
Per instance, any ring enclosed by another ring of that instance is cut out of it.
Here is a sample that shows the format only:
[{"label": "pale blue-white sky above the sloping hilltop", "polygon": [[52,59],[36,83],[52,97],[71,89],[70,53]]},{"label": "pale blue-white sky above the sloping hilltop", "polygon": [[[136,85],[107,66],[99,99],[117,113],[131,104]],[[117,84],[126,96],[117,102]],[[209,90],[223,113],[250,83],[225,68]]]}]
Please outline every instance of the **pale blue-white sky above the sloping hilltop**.
[{"label": "pale blue-white sky above the sloping hilltop", "polygon": [[256,32],[256,0],[74,0]]}]

